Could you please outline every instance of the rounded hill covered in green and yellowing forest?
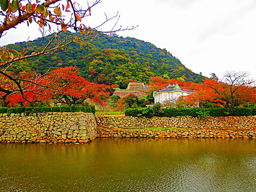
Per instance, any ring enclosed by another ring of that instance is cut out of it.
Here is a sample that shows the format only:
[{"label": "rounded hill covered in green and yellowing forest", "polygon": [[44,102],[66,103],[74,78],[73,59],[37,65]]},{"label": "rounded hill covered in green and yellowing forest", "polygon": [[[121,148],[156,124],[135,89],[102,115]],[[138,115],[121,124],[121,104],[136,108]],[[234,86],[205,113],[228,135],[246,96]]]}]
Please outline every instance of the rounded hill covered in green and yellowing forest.
[{"label": "rounded hill covered in green and yellowing forest", "polygon": [[[32,53],[38,51],[39,41],[40,39],[21,42],[8,47],[22,51],[28,46],[28,53]],[[32,69],[39,72],[45,72],[49,67],[56,69],[77,66],[80,69],[80,75],[91,82],[116,83],[121,88],[125,88],[131,80],[148,83],[150,77],[155,76],[180,78],[193,82],[202,82],[203,79],[202,76],[182,65],[180,60],[166,49],[157,48],[150,42],[135,38],[116,36],[109,38],[100,36],[92,42],[71,44],[64,50],[40,55],[28,62],[28,66],[32,66]]]}]

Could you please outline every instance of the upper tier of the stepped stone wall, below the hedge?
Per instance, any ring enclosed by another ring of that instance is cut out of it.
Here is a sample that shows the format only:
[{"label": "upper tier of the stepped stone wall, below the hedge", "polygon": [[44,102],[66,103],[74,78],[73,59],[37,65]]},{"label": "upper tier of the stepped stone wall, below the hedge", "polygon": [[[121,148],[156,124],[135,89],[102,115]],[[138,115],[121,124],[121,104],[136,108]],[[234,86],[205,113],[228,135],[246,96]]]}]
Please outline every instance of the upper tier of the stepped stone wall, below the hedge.
[{"label": "upper tier of the stepped stone wall, below the hedge", "polygon": [[256,130],[256,116],[227,116],[198,119],[191,116],[180,117],[96,117],[97,125],[113,128],[153,128],[175,127],[186,129],[247,129]]}]

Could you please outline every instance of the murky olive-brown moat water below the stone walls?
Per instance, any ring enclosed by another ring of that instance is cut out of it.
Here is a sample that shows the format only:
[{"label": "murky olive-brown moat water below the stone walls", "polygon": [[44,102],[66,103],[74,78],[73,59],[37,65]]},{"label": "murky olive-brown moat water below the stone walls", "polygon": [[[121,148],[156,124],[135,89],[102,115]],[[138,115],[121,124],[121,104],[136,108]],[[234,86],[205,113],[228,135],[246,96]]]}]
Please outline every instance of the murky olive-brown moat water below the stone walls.
[{"label": "murky olive-brown moat water below the stone walls", "polygon": [[0,144],[0,191],[256,191],[256,139]]}]

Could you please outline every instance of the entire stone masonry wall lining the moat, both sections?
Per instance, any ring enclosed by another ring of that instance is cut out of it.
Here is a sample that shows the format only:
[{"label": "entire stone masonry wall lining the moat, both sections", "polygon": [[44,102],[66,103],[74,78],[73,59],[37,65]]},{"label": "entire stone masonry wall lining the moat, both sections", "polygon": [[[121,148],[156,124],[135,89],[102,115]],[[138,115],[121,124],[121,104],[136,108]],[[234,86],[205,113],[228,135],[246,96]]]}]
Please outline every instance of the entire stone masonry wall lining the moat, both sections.
[{"label": "entire stone masonry wall lining the moat, both sections", "polygon": [[0,143],[87,143],[96,137],[256,138],[256,116],[95,119],[83,112],[0,114]]}]

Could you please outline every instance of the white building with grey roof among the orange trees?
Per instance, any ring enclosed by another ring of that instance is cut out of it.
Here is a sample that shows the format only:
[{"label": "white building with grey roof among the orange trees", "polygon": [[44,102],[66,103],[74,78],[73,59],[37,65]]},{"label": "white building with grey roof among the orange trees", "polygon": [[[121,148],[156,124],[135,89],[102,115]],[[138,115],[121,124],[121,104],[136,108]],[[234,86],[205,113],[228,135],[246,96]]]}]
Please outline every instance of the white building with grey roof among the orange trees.
[{"label": "white building with grey roof among the orange trees", "polygon": [[193,90],[187,89],[185,87],[181,88],[178,83],[176,85],[169,84],[166,88],[160,91],[154,91],[154,103],[163,103],[164,101],[170,101],[173,99],[178,99],[181,96],[187,96],[193,93]]}]

